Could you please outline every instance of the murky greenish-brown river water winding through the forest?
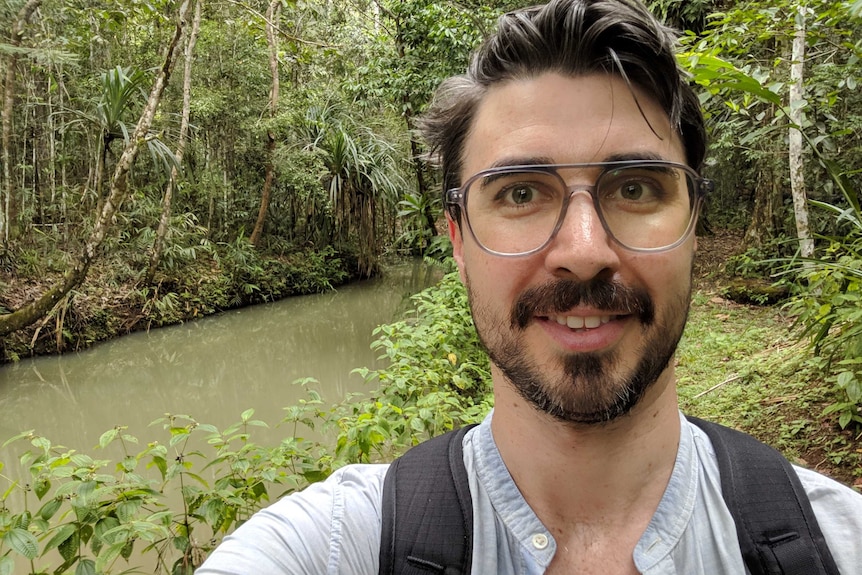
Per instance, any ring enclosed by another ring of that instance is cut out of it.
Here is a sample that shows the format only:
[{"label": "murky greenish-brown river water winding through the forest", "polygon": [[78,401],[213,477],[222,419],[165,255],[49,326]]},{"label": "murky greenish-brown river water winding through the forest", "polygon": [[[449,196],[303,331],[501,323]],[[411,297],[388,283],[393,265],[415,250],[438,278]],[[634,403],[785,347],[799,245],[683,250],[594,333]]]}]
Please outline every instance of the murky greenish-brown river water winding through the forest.
[{"label": "murky greenish-brown river water winding through the forest", "polygon": [[[377,365],[371,332],[405,309],[410,294],[438,278],[421,264],[399,266],[381,279],[335,292],[2,367],[0,438],[35,428],[54,443],[89,451],[115,425],[127,425],[141,439],[163,439],[148,424],[166,412],[221,428],[250,407],[275,424],[283,407],[305,397],[305,390],[292,385],[298,378],[317,378],[317,390],[329,401],[365,390],[350,371]],[[281,435],[283,430],[271,430],[269,437],[256,437],[263,442]],[[0,460],[7,455],[0,452]]]}]

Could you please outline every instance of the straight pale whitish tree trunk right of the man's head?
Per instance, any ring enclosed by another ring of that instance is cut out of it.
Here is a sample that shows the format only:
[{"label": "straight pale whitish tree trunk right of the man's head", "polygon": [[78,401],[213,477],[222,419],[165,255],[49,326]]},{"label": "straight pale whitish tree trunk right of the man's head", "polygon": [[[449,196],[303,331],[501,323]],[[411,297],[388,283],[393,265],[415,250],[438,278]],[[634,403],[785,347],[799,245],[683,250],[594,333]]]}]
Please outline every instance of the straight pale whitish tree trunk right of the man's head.
[{"label": "straight pale whitish tree trunk right of the man's head", "polygon": [[802,128],[804,105],[803,67],[805,63],[805,8],[796,13],[796,34],[793,37],[793,54],[790,64],[790,191],[793,195],[793,214],[796,216],[796,237],[802,257],[814,255],[814,240],[808,227],[808,197],[805,192],[805,174],[802,165]]}]

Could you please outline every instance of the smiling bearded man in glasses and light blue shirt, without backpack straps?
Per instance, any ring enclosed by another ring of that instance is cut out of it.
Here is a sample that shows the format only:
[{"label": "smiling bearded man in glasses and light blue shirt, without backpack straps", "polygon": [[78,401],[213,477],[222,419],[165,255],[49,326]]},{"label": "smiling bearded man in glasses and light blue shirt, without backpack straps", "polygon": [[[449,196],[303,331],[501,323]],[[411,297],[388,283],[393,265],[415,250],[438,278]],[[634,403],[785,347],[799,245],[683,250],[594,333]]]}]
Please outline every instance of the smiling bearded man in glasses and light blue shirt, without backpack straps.
[{"label": "smiling bearded man in glasses and light blue shirt, without backpack straps", "polygon": [[[709,188],[672,36],[636,0],[514,12],[423,129],[493,364],[494,411],[463,443],[472,572],[745,573],[671,361]],[[386,469],[279,501],[198,573],[377,573]],[[859,573],[862,496],[798,475],[839,569]]]}]

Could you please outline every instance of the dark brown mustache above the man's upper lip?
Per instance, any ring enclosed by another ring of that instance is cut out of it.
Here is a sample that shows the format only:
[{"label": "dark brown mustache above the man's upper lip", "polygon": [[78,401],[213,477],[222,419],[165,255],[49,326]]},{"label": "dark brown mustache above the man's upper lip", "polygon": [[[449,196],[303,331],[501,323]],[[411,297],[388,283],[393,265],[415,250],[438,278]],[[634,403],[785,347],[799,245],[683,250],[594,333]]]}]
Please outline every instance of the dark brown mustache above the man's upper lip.
[{"label": "dark brown mustache above the man's upper lip", "polygon": [[524,291],[512,306],[511,325],[524,329],[537,315],[563,313],[578,305],[632,314],[644,325],[655,320],[652,298],[642,288],[602,278],[588,282],[561,279]]}]

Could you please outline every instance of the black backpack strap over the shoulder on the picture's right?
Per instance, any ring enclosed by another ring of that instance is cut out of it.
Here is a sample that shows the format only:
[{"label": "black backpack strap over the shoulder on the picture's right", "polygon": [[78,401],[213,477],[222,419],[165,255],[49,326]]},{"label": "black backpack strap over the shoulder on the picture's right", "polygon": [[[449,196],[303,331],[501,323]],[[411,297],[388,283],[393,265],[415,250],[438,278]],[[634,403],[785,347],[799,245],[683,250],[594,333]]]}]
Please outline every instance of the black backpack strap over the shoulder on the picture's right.
[{"label": "black backpack strap over the shoulder on the picture's right", "polygon": [[712,441],[724,501],[753,575],[838,575],[808,495],[778,451],[739,431],[689,417]]}]

